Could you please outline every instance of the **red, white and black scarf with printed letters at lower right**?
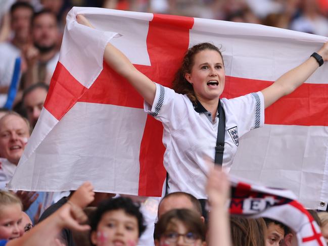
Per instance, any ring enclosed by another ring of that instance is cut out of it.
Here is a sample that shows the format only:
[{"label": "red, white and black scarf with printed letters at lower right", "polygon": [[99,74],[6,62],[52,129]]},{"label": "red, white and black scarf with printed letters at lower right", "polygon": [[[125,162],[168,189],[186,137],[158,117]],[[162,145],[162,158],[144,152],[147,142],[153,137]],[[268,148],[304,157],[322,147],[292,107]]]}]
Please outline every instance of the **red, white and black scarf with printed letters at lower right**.
[{"label": "red, white and black scarf with printed letters at lower right", "polygon": [[236,177],[230,177],[230,180],[230,214],[277,220],[296,233],[298,245],[326,245],[320,227],[309,212],[296,201],[293,192],[250,184]]}]

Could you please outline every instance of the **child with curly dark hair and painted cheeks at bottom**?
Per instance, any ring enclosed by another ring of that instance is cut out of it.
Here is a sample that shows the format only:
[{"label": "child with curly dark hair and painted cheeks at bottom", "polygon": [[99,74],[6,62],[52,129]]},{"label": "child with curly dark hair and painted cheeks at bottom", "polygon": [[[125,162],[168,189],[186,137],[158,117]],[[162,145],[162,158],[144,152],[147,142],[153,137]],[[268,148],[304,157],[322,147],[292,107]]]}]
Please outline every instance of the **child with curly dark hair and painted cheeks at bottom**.
[{"label": "child with curly dark hair and painted cheeks at bottom", "polygon": [[93,245],[134,246],[146,229],[143,214],[129,198],[102,202],[90,220]]}]

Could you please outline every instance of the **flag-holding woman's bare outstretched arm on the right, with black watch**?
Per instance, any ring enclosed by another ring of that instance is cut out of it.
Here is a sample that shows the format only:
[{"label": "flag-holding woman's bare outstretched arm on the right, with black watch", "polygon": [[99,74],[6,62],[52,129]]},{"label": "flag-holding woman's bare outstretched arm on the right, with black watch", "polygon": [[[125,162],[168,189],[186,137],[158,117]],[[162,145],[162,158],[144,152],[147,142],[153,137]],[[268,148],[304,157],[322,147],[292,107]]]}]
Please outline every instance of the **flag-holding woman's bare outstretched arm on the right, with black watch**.
[{"label": "flag-holding woman's bare outstretched arm on the right, with black watch", "polygon": [[[324,43],[317,52],[323,61],[328,61],[328,42]],[[309,54],[310,55],[310,54]],[[288,71],[278,78],[272,85],[262,90],[265,108],[269,107],[280,97],[292,93],[297,87],[304,83],[312,73],[319,67],[315,58],[309,57],[298,67]]]}]

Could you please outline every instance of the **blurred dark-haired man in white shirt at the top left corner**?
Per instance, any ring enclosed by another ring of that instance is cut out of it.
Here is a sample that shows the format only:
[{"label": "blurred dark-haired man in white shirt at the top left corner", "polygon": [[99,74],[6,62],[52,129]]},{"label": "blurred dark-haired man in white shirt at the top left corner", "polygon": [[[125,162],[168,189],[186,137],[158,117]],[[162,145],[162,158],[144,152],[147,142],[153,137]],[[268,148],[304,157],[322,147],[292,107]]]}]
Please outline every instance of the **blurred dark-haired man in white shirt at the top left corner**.
[{"label": "blurred dark-haired man in white shirt at the top left corner", "polygon": [[[21,57],[22,51],[30,41],[30,22],[33,12],[33,7],[25,2],[17,2],[11,7],[11,29],[14,32],[14,37],[10,41],[0,43],[0,107],[3,107],[7,100],[15,60]],[[22,60],[21,71],[26,71],[24,59]]]}]

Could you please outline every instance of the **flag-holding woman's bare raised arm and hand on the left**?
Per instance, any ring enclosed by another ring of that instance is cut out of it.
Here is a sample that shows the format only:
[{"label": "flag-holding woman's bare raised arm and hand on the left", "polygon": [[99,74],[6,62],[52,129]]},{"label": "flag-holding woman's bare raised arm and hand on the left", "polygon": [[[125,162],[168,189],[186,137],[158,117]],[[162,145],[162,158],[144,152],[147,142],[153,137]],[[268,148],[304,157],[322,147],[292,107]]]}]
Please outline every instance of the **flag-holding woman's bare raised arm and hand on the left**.
[{"label": "flag-holding woman's bare raised arm and hand on the left", "polygon": [[[76,19],[78,23],[93,28],[84,16],[77,15]],[[152,80],[140,73],[129,59],[110,43],[105,48],[104,59],[113,70],[129,81],[148,104],[153,105],[156,85]]]}]

